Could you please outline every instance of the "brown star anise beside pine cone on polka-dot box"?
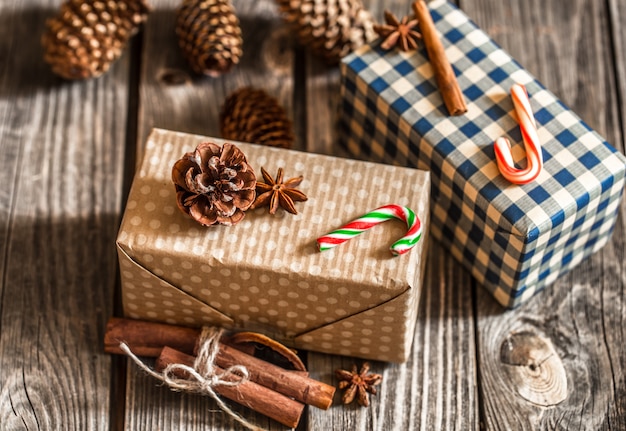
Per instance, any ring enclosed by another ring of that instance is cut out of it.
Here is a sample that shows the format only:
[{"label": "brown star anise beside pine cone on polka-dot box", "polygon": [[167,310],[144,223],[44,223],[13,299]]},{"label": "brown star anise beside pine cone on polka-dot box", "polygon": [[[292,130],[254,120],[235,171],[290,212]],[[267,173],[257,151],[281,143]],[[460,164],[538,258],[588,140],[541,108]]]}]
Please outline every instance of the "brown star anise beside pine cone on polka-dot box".
[{"label": "brown star anise beside pine cone on polka-dot box", "polygon": [[294,202],[303,202],[307,199],[304,193],[296,189],[302,182],[302,175],[283,181],[283,168],[278,168],[276,179],[273,179],[263,168],[261,168],[261,174],[265,183],[256,183],[257,198],[252,207],[269,206],[270,214],[275,214],[281,206],[292,214],[298,214]]}]

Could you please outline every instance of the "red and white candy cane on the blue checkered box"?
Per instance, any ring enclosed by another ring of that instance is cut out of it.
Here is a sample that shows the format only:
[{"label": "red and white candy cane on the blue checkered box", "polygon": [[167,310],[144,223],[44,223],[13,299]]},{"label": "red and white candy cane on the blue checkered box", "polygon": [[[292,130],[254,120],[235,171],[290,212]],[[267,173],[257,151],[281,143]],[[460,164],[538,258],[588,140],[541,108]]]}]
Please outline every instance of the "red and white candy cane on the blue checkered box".
[{"label": "red and white candy cane on the blue checkered box", "polygon": [[515,113],[519,119],[519,126],[526,149],[527,165],[524,169],[517,169],[513,163],[511,155],[511,144],[509,140],[500,137],[494,143],[496,162],[498,169],[504,178],[513,184],[526,184],[537,178],[543,167],[543,155],[541,154],[541,143],[537,134],[537,125],[533,116],[528,93],[521,84],[513,84],[511,87],[511,98]]}]

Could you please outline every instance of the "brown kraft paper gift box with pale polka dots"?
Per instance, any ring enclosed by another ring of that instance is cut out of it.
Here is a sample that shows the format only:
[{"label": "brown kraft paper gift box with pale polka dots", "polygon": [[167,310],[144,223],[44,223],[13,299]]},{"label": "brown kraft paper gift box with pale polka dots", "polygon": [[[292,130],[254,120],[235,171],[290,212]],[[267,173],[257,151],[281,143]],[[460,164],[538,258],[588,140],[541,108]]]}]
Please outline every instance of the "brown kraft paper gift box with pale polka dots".
[{"label": "brown kraft paper gift box with pale polka dots", "polygon": [[[154,130],[135,175],[117,239],[127,317],[262,332],[306,350],[383,361],[407,359],[424,272],[430,175],[416,169],[236,143],[257,179],[261,167],[302,175],[297,215],[248,210],[232,226],[205,227],[180,211],[172,167],[201,142]],[[386,204],[411,208],[422,238],[407,254],[389,246],[407,232],[381,223],[323,252],[316,239]]]}]

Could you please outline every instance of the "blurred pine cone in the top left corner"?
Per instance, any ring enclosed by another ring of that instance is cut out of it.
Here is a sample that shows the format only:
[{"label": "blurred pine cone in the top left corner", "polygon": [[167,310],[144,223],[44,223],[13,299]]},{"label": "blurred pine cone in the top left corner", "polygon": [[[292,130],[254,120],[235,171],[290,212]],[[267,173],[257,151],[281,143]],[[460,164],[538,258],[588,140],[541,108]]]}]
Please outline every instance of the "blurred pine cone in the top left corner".
[{"label": "blurred pine cone in the top left corner", "polygon": [[46,23],[44,60],[66,79],[100,76],[122,55],[148,11],[145,0],[67,0]]}]

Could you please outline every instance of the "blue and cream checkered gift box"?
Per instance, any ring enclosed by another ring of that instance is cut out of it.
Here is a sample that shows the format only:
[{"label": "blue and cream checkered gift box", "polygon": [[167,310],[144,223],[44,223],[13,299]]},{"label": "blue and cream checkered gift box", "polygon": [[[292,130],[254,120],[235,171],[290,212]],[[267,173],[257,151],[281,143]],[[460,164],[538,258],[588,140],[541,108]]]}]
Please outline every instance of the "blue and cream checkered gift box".
[{"label": "blue and cream checkered gift box", "polygon": [[[601,248],[613,230],[626,159],[455,6],[429,4],[468,112],[447,114],[425,49],[375,43],[341,64],[341,142],[355,157],[430,170],[431,233],[515,307]],[[526,86],[544,168],[506,181],[493,142],[508,136],[525,164],[509,90]]]}]

